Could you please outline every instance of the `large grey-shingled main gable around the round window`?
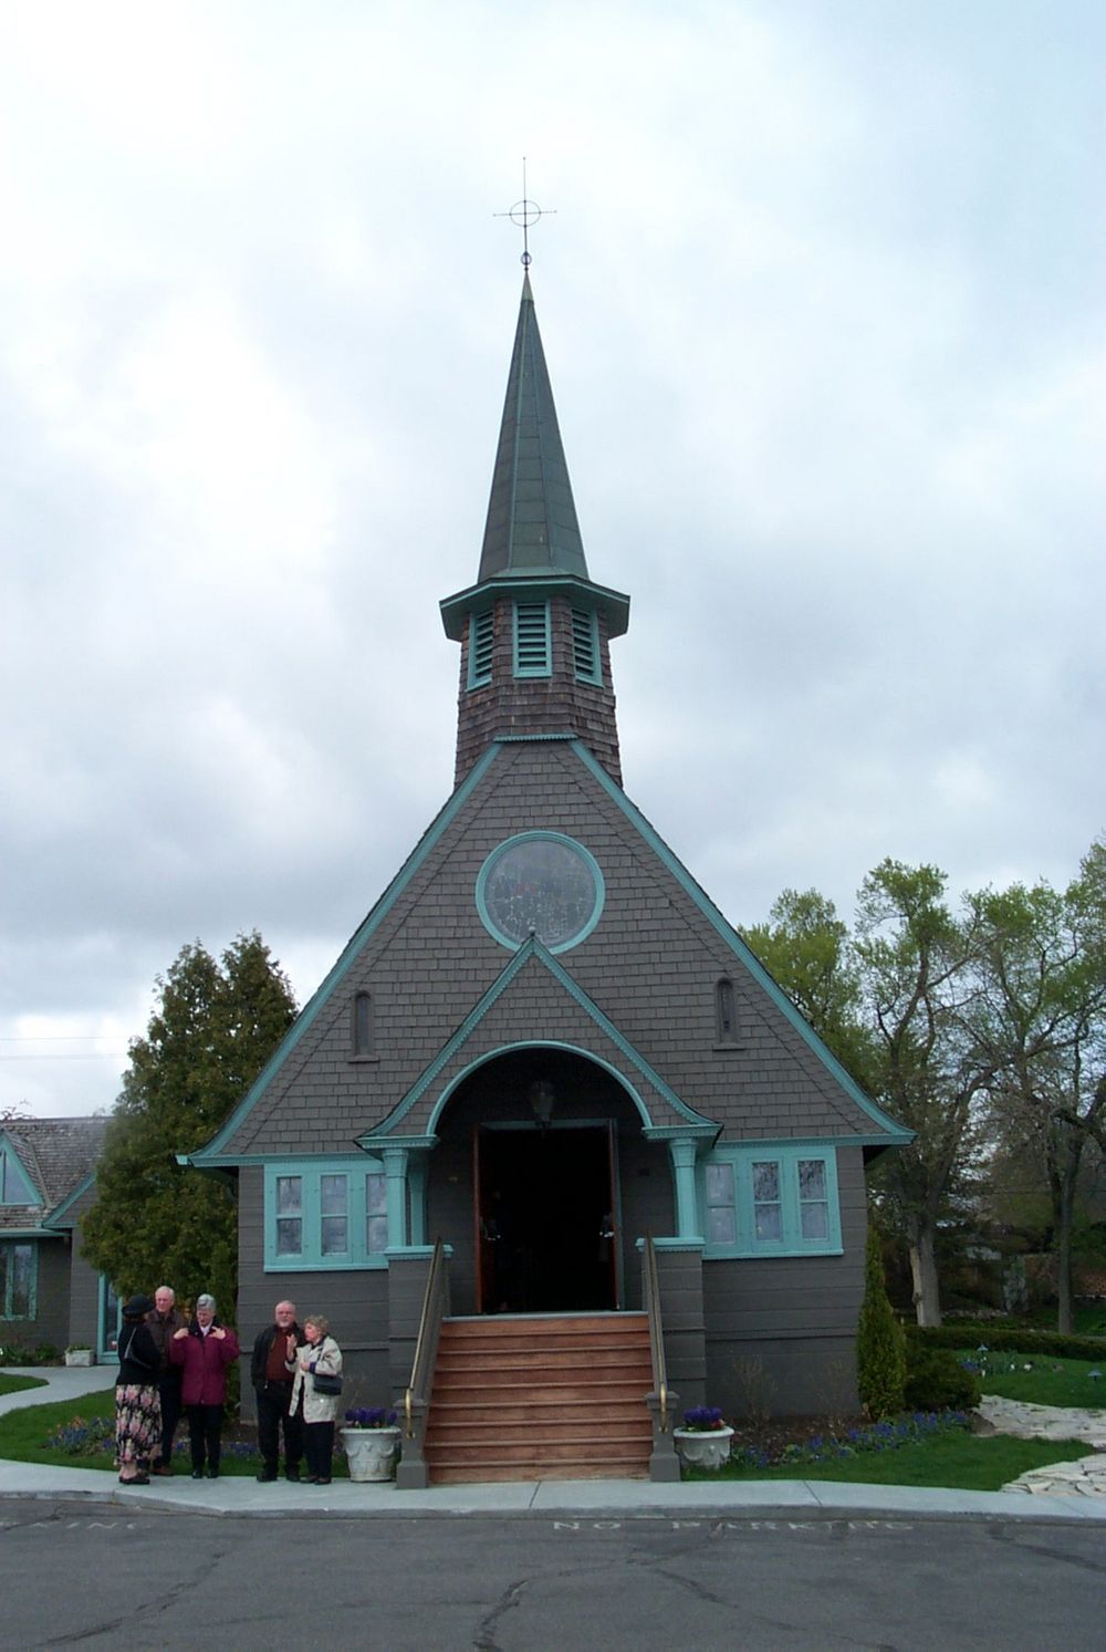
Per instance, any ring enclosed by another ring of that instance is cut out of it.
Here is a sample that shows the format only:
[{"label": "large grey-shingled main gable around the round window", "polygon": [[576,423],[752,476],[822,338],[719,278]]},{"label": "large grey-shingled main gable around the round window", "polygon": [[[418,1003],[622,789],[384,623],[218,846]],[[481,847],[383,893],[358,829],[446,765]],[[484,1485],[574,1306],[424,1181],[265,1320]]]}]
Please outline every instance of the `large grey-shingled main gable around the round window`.
[{"label": "large grey-shingled main gable around the round window", "polygon": [[[536,976],[522,970],[517,953],[503,963],[503,952],[480,925],[474,902],[487,854],[505,836],[527,828],[574,831],[606,862],[604,877],[607,871],[614,874],[607,877],[604,919],[589,938],[548,963],[538,948],[530,948],[527,957]],[[670,993],[650,1003],[642,998],[642,983],[655,975],[665,976]],[[733,975],[753,1037],[748,1049],[720,1054],[711,1049],[711,995],[723,975]],[[388,991],[396,980],[399,985],[381,1004],[381,1014],[391,1016],[403,1036],[390,1041],[375,1064],[350,1062],[353,991],[381,983]],[[545,988],[538,990],[538,980]],[[640,1061],[655,1074],[662,1084],[652,1089],[657,1117],[669,1125],[683,1118],[685,1128],[695,1128],[693,1115],[725,1128],[731,1140],[830,1135],[873,1146],[910,1140],[910,1132],[888,1118],[835,1061],[586,747],[546,737],[502,738],[489,747],[350,938],[236,1112],[206,1146],[190,1155],[191,1161],[226,1165],[277,1153],[348,1150],[385,1120],[395,1123],[398,1108],[426,1074],[441,1079],[439,1092],[452,1084],[451,1075],[462,1064],[461,1044],[474,1051],[487,1041],[508,990],[518,993],[523,985],[530,1011],[538,1004],[541,1009],[538,1019],[532,1014],[532,1028],[548,1009],[568,1028],[563,1001],[571,998],[578,1036],[565,1032],[568,1044],[578,1046],[579,1029],[589,1029],[591,1042],[599,1047],[596,1041],[612,1031],[621,1041],[621,1054],[611,1044],[612,1066],[626,1074],[640,1070]],[[543,996],[535,998],[538,991]],[[472,1028],[464,1032],[470,1018],[475,1018]],[[515,1042],[533,1041],[532,1032],[522,1031],[525,1026],[522,999],[515,998]],[[451,1051],[454,1066],[447,1069]],[[675,1110],[669,1097],[675,1099]],[[683,1107],[687,1113],[680,1112]],[[432,1099],[419,1117],[429,1120],[431,1110]]]}]

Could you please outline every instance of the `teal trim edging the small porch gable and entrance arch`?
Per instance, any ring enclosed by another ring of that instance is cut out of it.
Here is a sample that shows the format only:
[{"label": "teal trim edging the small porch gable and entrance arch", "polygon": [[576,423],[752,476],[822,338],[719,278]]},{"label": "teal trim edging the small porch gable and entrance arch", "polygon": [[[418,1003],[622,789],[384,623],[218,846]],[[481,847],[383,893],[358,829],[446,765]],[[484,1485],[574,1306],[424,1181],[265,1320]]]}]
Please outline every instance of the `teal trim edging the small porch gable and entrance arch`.
[{"label": "teal trim edging the small porch gable and entrance arch", "polygon": [[[368,1143],[375,1143],[388,1137],[393,1125],[399,1123],[409,1113],[409,1110],[416,1105],[418,1100],[421,1100],[421,1097],[431,1087],[434,1079],[452,1059],[452,1056],[461,1049],[462,1044],[467,1042],[467,1039],[472,1036],[472,1032],[480,1024],[484,1016],[507,991],[510,983],[515,980],[523,965],[530,961],[530,958],[541,963],[550,971],[550,975],[553,975],[553,978],[565,988],[570,998],[589,1016],[591,1021],[596,1023],[598,1028],[601,1028],[606,1032],[606,1036],[611,1039],[616,1049],[619,1049],[621,1054],[626,1056],[631,1066],[636,1067],[636,1070],[644,1079],[647,1079],[647,1082],[665,1099],[665,1102],[682,1118],[687,1118],[687,1122],[692,1125],[702,1125],[715,1133],[718,1132],[716,1123],[711,1123],[711,1120],[703,1118],[700,1113],[692,1112],[692,1108],[680,1100],[675,1090],[669,1084],[665,1084],[660,1074],[655,1072],[654,1067],[650,1067],[650,1064],[644,1059],[644,1056],[639,1056],[637,1051],[622,1037],[617,1028],[607,1019],[607,1016],[603,1014],[603,1011],[598,1008],[598,1004],[593,1003],[588,993],[584,993],[583,988],[578,986],[578,983],[568,975],[563,965],[556,961],[556,958],[548,952],[548,948],[545,948],[541,942],[536,940],[536,937],[530,937],[530,940],[523,942],[518,952],[513,955],[513,958],[510,958],[510,961],[500,970],[499,976],[495,978],[495,981],[492,981],[492,985],[482,995],[482,998],[477,999],[477,1003],[469,1011],[466,1019],[461,1023],[454,1036],[441,1047],[434,1061],[423,1069],[423,1072],[414,1080],[408,1094],[399,1100],[395,1112],[388,1118],[381,1120],[381,1123],[375,1125],[371,1130],[366,1130],[365,1135],[358,1137],[358,1145],[366,1146]],[[497,1051],[492,1051],[487,1056],[482,1056],[479,1061],[470,1062],[464,1069],[464,1072],[461,1072],[449,1084],[449,1087],[442,1092],[442,1095],[439,1095],[434,1105],[434,1112],[431,1117],[431,1130],[436,1128],[442,1107],[456,1090],[457,1084],[461,1084],[461,1080],[469,1072],[474,1072],[477,1067],[482,1067],[489,1061],[494,1061],[495,1056],[505,1054],[507,1049],[565,1049],[570,1051],[571,1054],[583,1056],[586,1061],[596,1062],[596,1066],[604,1067],[622,1085],[626,1094],[632,1099],[634,1105],[637,1107],[642,1123],[647,1128],[654,1128],[652,1117],[640,1092],[629,1082],[626,1074],[619,1072],[614,1066],[611,1066],[611,1062],[593,1054],[591,1051],[579,1049],[574,1044],[561,1044],[556,1039],[520,1039],[517,1044],[500,1046]]]}]

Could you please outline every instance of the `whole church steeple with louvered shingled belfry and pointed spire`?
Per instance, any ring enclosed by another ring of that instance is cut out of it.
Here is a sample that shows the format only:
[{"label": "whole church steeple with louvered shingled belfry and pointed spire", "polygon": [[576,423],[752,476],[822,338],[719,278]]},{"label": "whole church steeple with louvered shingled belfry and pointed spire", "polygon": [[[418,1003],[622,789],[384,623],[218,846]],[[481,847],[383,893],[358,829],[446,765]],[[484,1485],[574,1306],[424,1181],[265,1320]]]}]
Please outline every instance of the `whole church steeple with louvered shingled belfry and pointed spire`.
[{"label": "whole church steeple with louvered shingled belfry and pointed spire", "polygon": [[629,596],[588,578],[528,273],[477,583],[441,613],[461,643],[457,785],[510,735],[583,740],[622,783],[607,644]]}]

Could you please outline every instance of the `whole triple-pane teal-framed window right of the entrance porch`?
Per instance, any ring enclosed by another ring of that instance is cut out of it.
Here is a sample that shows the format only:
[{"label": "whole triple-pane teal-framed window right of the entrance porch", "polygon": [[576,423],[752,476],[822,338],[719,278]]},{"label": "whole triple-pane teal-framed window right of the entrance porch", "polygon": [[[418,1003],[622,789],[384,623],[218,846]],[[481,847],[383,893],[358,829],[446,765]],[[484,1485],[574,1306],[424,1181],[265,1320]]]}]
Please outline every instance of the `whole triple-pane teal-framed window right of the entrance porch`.
[{"label": "whole triple-pane teal-framed window right of the entrance porch", "polygon": [[842,1254],[832,1143],[718,1146],[700,1165],[698,1196],[708,1259]]}]

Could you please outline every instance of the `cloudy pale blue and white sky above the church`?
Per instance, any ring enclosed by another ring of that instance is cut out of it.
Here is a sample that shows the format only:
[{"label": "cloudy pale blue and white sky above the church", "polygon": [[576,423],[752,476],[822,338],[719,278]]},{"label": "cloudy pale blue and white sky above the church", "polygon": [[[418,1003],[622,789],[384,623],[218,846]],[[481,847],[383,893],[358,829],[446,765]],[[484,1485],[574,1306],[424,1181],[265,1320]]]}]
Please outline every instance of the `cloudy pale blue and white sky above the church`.
[{"label": "cloudy pale blue and white sky above the church", "polygon": [[[0,1110],[305,1001],[452,786],[532,281],[629,796],[738,925],[1106,831],[1101,0],[13,0]],[[523,157],[527,183],[523,192]]]}]

